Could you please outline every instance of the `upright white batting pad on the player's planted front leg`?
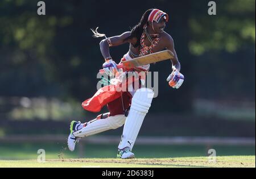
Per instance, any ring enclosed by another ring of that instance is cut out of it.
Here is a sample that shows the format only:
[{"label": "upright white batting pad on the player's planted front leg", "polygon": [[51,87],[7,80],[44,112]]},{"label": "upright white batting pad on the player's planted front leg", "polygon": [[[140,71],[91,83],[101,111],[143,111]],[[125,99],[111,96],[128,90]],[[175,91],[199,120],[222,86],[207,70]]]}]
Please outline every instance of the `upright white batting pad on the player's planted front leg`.
[{"label": "upright white batting pad on the player's planted front leg", "polygon": [[125,147],[130,147],[131,150],[133,149],[144,117],[146,116],[148,109],[150,109],[153,97],[154,91],[148,88],[141,88],[135,92],[131,99],[131,108],[126,118],[125,126],[123,127],[122,138],[118,145],[119,149]]}]

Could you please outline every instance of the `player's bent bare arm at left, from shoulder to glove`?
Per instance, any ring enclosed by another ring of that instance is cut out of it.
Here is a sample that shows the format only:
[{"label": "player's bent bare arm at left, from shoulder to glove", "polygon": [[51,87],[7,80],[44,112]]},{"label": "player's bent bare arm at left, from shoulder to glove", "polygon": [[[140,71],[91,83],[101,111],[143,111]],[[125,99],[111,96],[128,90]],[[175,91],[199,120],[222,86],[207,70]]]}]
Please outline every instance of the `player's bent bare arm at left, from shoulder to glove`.
[{"label": "player's bent bare arm at left, from shoulder to glove", "polygon": [[[123,41],[128,36],[130,36],[130,34],[131,34],[131,32],[125,32],[125,33],[123,33],[119,36],[113,36],[111,38],[108,38],[111,41],[111,44],[112,44],[111,47],[122,45],[122,44],[125,44],[125,43],[130,43],[130,40]],[[107,39],[101,40],[100,48],[101,48],[101,53],[102,53],[102,56],[104,57],[104,59],[106,59],[107,57],[110,56],[110,54],[109,54],[109,43],[108,43]]]}]

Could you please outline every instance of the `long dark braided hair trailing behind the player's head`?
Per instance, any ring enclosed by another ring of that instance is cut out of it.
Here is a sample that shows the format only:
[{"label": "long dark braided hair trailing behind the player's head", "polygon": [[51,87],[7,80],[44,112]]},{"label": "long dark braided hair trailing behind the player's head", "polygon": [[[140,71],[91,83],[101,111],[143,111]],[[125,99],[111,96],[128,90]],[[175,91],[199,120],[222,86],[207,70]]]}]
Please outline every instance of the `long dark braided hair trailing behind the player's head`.
[{"label": "long dark braided hair trailing behind the player's head", "polygon": [[143,33],[143,27],[144,27],[145,24],[148,23],[147,19],[148,19],[148,16],[150,15],[152,10],[154,10],[154,9],[148,9],[142,15],[141,21],[136,26],[134,26],[133,29],[131,30],[131,35],[128,36],[123,41],[130,40],[130,39],[133,39],[133,38],[137,38],[137,42],[136,42],[136,44],[133,45],[133,47],[135,48],[135,47],[138,47],[140,45],[141,35]]}]

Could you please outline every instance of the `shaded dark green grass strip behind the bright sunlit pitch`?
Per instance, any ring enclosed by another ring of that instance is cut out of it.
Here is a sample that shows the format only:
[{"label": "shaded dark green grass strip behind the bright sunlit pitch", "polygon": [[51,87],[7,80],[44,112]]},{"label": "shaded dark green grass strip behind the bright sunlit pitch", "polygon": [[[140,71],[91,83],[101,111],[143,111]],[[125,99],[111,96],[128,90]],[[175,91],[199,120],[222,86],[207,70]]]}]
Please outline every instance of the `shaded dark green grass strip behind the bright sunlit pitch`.
[{"label": "shaded dark green grass strip behind the bright sunlit pitch", "polygon": [[[74,152],[65,143],[1,143],[0,160],[35,160],[38,149],[46,151],[46,159],[113,158],[118,144],[83,144]],[[135,145],[133,152],[138,159],[208,156],[208,149],[217,156],[254,156],[255,146],[243,145]]]}]

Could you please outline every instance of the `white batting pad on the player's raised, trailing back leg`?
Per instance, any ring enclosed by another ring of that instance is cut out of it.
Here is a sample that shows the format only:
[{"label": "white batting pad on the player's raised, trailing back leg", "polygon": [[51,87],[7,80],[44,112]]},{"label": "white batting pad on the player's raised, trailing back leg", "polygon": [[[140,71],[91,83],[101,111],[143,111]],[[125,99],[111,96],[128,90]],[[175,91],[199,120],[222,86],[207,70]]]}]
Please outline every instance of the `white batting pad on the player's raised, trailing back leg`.
[{"label": "white batting pad on the player's raised, trailing back leg", "polygon": [[115,115],[109,116],[105,119],[94,119],[91,120],[91,123],[88,122],[88,125],[81,128],[78,131],[73,132],[73,135],[77,138],[84,138],[86,136],[98,134],[110,129],[115,129],[123,126],[125,123],[125,115]]}]

